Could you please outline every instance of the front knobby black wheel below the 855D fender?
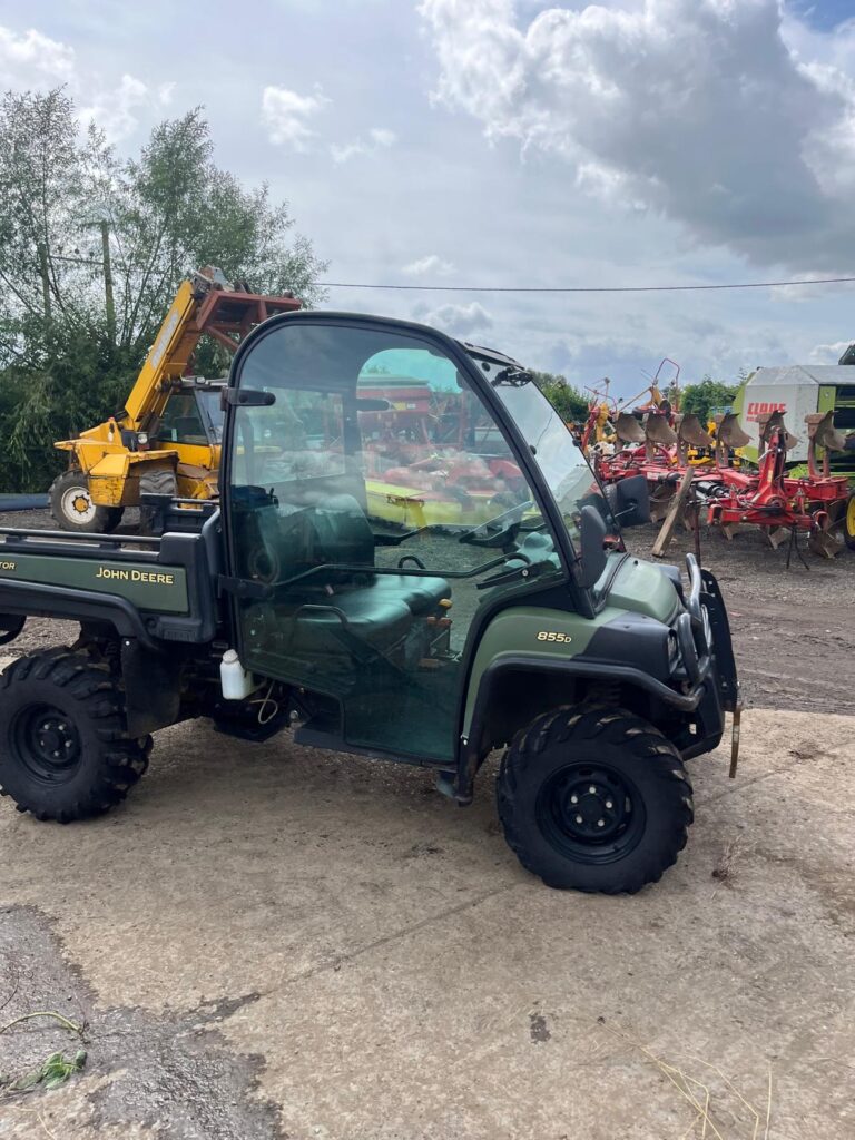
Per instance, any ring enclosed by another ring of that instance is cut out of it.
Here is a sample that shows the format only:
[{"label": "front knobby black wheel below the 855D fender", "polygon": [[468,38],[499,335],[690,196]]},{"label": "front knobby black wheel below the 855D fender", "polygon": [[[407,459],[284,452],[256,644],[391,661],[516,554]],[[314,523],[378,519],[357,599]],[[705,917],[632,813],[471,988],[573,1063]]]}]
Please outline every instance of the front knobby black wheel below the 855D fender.
[{"label": "front knobby black wheel below the 855D fender", "polygon": [[549,887],[633,894],[685,847],[692,785],[677,749],[626,709],[537,717],[497,777],[505,839]]}]

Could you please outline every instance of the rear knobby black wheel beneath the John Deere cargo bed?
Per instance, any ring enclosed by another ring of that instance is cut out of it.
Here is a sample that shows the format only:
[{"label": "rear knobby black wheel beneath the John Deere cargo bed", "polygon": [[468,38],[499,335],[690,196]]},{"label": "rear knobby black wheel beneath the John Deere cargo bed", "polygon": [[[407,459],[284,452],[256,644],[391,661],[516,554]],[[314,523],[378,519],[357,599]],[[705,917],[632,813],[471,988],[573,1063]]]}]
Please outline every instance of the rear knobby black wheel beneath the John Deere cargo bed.
[{"label": "rear knobby black wheel beneath the John Deere cargo bed", "polygon": [[105,666],[63,649],[19,658],[0,674],[0,795],[39,820],[107,812],[148,767],[152,738],[124,728]]}]

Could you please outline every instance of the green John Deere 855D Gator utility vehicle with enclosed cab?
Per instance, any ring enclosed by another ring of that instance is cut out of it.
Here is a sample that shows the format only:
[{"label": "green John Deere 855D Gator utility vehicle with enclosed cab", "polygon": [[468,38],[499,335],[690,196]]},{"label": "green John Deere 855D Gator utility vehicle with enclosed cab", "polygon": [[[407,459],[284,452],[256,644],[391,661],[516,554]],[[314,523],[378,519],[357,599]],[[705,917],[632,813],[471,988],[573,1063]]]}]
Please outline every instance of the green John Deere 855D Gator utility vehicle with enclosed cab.
[{"label": "green John Deere 855D Gator utility vehicle with enclosed cab", "polygon": [[[453,523],[372,514],[385,374],[441,396],[437,438],[402,441],[414,469],[502,472],[487,518],[463,487]],[[149,499],[161,537],[0,531],[0,638],[27,614],[80,622],[0,677],[3,793],[40,820],[98,815],[149,733],[192,717],[431,767],[458,804],[506,747],[498,814],[523,866],[581,890],[658,880],[692,822],[684,762],[718,744],[738,683],[714,576],[624,547],[644,479],[606,498],[521,365],[399,320],[270,317],[222,398],[218,503]]]}]

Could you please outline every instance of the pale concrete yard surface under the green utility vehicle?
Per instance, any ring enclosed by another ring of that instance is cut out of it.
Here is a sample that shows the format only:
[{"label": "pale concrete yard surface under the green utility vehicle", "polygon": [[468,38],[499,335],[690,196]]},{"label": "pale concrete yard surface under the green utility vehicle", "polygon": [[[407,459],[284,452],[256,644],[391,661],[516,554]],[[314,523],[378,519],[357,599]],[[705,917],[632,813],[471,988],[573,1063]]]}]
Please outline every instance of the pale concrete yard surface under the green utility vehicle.
[{"label": "pale concrete yard surface under the green utility vehicle", "polygon": [[[852,1137],[854,727],[746,712],[738,779],[724,746],[690,764],[689,846],[634,897],[527,874],[495,763],[459,809],[199,722],[104,819],[3,800],[0,1023],[84,1018],[89,1059],[0,1099],[0,1138]],[[18,1026],[0,1072],[60,1048]]]}]

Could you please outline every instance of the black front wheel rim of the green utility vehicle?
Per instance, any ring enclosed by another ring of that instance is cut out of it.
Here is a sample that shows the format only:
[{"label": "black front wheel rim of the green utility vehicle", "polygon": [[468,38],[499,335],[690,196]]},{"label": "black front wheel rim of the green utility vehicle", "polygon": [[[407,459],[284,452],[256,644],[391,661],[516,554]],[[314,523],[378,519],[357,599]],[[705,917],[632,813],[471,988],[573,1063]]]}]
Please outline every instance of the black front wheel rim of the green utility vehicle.
[{"label": "black front wheel rim of the green utility vehicle", "polygon": [[635,783],[608,764],[568,764],[544,781],[536,804],[542,834],[576,863],[613,863],[644,833]]}]

